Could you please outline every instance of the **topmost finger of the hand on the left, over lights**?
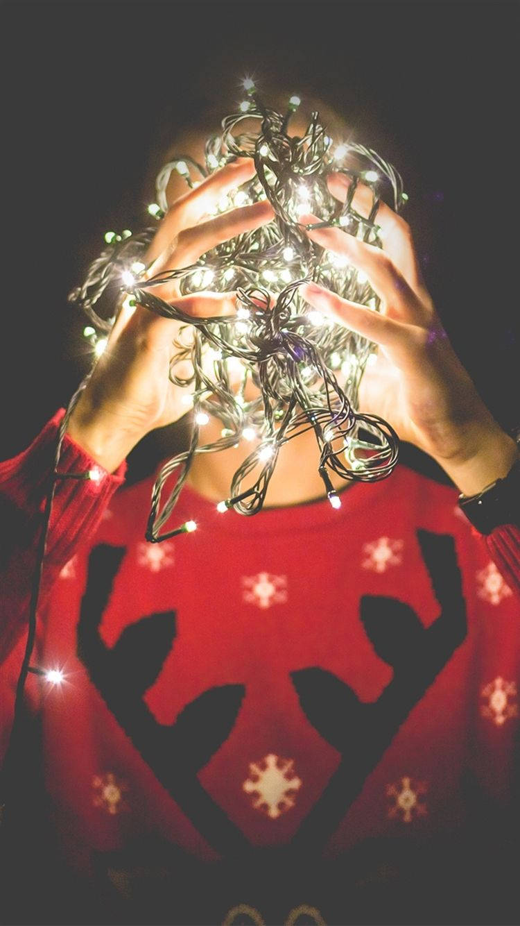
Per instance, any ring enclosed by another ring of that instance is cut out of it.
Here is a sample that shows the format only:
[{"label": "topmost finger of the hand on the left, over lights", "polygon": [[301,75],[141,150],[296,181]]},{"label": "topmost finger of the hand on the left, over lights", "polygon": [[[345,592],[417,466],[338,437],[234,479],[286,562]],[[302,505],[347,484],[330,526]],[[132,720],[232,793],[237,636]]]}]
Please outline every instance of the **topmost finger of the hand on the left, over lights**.
[{"label": "topmost finger of the hand on the left, over lights", "polygon": [[199,219],[217,207],[222,196],[254,177],[254,161],[251,157],[240,157],[206,177],[199,186],[180,196],[169,207],[165,218],[155,234],[147,254],[147,262],[167,249],[182,229],[195,225]]}]

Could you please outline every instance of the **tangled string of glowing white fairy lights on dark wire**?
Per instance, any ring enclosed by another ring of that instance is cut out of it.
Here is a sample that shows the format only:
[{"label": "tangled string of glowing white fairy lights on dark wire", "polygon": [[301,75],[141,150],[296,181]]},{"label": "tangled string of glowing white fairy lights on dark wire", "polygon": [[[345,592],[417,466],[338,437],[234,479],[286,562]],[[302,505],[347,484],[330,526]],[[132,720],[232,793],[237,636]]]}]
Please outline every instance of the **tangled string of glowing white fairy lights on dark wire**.
[{"label": "tangled string of glowing white fairy lights on dark wire", "polygon": [[[246,95],[238,112],[223,119],[221,131],[207,140],[204,163],[178,156],[160,170],[156,202],[148,206],[155,225],[137,233],[130,229],[106,232],[104,250],[93,260],[84,282],[69,295],[70,301],[87,315],[89,324],[83,333],[92,344],[94,357],[103,353],[118,307],[125,303],[130,307],[139,304],[181,323],[169,378],[191,394],[192,434],[188,449],[168,460],[156,478],[146,530],[146,539],[151,542],[196,529],[195,521],[188,520],[163,530],[197,454],[215,453],[242,441],[254,444],[233,476],[229,497],[217,505],[219,512],[233,508],[243,515],[261,510],[281,447],[304,431],[312,429],[316,435],[318,471],[332,507],[339,508],[341,500],[330,472],[344,480],[371,482],[389,476],[397,462],[397,435],[390,425],[356,410],[359,385],[366,363],[373,356],[373,345],[311,309],[300,286],[309,281],[320,283],[374,311],[379,309],[378,296],[365,275],[346,258],[310,241],[300,217],[312,213],[320,227],[336,226],[381,246],[378,204],[386,193],[396,211],[402,208],[407,197],[402,192],[401,177],[372,149],[352,141],[335,144],[317,112],[312,113],[303,136],[289,134],[291,116],[301,104],[298,96],[291,96],[282,115],[264,105],[254,81],[243,81],[243,89]],[[245,119],[249,123],[254,120],[258,131],[242,131]],[[261,228],[219,244],[191,266],[150,276],[146,252],[156,223],[167,213],[171,174],[175,171],[192,188],[236,157],[254,159],[254,179],[223,196],[213,214],[266,199],[275,218]],[[328,190],[328,175],[332,172],[349,178],[344,203]],[[368,216],[353,204],[360,182],[372,193]],[[237,312],[218,319],[194,318],[154,293],[156,287],[172,281],[176,281],[180,295],[207,290],[235,292]],[[192,332],[188,339],[183,336],[186,331]],[[180,375],[180,364],[185,361],[191,364],[189,377]],[[31,666],[31,656],[56,484],[67,479],[99,482],[102,476],[97,467],[84,473],[59,471],[68,420],[91,375],[92,370],[72,396],[56,442],[31,588],[29,632],[17,685],[15,720],[3,770],[5,792],[9,776],[16,773],[17,732],[28,674],[50,686],[66,681],[58,667]],[[251,384],[255,387],[252,399],[248,397]],[[210,416],[220,419],[221,436],[213,443],[204,443],[204,425]],[[174,488],[162,502],[166,482],[178,469]]]}]

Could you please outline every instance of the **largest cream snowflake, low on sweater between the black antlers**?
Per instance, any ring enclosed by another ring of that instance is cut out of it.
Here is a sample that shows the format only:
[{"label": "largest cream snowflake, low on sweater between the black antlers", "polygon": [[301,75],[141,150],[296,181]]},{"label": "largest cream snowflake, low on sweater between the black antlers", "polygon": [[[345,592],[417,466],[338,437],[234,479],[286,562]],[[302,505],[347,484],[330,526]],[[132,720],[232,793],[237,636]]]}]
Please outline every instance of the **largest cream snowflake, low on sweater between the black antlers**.
[{"label": "largest cream snowflake, low on sweater between the black antlers", "polygon": [[253,807],[266,813],[271,820],[277,820],[295,804],[296,792],[302,787],[302,780],[293,773],[294,760],[280,758],[273,753],[259,762],[250,762],[250,777],[242,788],[253,795]]}]

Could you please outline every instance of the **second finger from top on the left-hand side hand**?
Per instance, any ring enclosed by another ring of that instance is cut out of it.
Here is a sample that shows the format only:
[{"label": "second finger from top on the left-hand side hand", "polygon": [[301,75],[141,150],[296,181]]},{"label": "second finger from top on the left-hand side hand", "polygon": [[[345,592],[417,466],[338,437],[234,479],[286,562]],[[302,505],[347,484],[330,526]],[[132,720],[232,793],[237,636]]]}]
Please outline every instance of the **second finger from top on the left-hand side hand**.
[{"label": "second finger from top on the left-hand side hand", "polygon": [[225,212],[216,219],[208,219],[183,229],[171,244],[157,257],[149,268],[148,275],[155,276],[164,269],[179,269],[194,264],[206,251],[211,251],[217,244],[224,244],[242,232],[252,232],[274,219],[273,207],[267,200],[254,203],[253,206],[241,206]]}]

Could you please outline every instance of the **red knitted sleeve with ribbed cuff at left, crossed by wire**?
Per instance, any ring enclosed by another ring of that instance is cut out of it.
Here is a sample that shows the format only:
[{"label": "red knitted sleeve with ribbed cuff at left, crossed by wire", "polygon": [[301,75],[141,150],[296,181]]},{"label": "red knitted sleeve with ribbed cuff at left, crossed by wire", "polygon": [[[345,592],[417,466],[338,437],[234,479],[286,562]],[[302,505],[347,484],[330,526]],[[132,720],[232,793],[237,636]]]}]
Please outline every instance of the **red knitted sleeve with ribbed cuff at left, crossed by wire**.
[{"label": "red knitted sleeve with ribbed cuff at left, crossed by wire", "polygon": [[[56,412],[27,450],[0,463],[0,664],[27,624],[45,500],[64,415],[64,409]],[[126,465],[109,474],[66,434],[57,470],[76,474],[94,470],[96,478],[56,481],[40,605],[79,544],[93,536],[110,498],[124,482]]]}]

